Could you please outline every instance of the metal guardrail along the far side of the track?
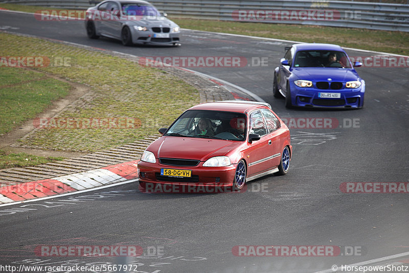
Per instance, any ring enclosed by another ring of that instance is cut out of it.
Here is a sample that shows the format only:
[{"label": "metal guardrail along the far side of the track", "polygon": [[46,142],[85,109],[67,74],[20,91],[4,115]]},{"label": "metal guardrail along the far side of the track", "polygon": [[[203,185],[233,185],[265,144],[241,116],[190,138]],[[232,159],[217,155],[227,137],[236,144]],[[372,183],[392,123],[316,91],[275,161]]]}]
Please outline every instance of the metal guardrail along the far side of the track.
[{"label": "metal guardrail along the far side of the track", "polygon": [[[93,6],[87,0],[8,0],[0,2],[64,9],[86,9]],[[302,20],[300,16],[298,17],[300,20],[264,19],[254,21],[272,24],[320,25],[409,32],[409,5],[404,4],[327,0],[150,0],[150,2],[159,10],[166,11],[170,16],[187,16],[225,21],[246,21],[234,16],[234,12],[237,14],[238,11],[329,11],[336,16],[332,17],[332,19],[324,20],[313,20],[311,18]],[[250,15],[251,13],[247,14]]]}]

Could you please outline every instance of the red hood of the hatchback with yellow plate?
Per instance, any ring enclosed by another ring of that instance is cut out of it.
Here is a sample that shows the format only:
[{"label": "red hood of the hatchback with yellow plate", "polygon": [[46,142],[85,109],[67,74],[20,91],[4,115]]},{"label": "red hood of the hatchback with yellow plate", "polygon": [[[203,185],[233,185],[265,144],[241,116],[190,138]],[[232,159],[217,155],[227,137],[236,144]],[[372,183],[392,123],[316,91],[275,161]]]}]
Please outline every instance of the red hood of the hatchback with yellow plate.
[{"label": "red hood of the hatchback with yellow plate", "polygon": [[148,150],[156,157],[206,161],[212,156],[224,155],[240,144],[239,141],[166,136],[153,142]]}]

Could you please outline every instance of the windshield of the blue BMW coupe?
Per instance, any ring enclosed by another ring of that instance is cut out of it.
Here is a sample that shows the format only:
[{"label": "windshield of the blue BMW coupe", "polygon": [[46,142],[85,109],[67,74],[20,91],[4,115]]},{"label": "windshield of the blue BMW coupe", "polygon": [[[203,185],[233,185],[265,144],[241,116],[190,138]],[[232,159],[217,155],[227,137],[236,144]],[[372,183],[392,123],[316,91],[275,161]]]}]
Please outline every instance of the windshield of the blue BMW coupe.
[{"label": "windshield of the blue BMW coupe", "polygon": [[294,58],[294,67],[342,67],[351,68],[345,52],[328,50],[298,51]]}]

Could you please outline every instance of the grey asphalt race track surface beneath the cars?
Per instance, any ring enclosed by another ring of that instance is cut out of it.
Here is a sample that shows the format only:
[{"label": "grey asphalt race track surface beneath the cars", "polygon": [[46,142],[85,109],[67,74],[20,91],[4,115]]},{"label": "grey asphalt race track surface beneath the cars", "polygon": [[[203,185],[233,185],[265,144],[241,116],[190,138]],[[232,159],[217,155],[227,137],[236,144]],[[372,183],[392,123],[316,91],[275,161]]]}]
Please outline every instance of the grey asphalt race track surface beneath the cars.
[{"label": "grey asphalt race track surface beneath the cars", "polygon": [[[272,74],[287,42],[185,30],[181,47],[124,47],[107,38],[88,39],[82,21],[38,21],[9,12],[0,12],[0,28],[137,56],[245,57],[254,65],[188,68],[250,90],[282,118],[337,122],[334,128],[291,128],[288,174],[254,180],[244,193],[144,194],[132,183],[0,207],[1,265],[133,264],[140,272],[155,273],[315,272],[409,252],[407,193],[340,190],[347,182],[409,181],[408,68],[357,68],[367,84],[362,109],[286,109],[284,99],[272,97]],[[257,65],[266,57],[268,65]],[[119,244],[139,245],[145,256],[34,253],[38,245]],[[237,257],[232,249],[241,245],[333,245],[342,252],[335,257]],[[344,252],[351,247],[353,253]]]}]

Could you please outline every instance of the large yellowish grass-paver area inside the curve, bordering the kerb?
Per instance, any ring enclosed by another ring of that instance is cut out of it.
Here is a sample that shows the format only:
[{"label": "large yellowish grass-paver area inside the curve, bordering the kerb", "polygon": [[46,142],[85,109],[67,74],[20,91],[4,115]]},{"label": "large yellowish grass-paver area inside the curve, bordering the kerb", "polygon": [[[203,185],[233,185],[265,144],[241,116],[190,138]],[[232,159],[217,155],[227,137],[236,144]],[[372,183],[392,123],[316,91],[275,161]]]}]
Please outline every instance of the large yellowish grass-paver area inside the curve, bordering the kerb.
[{"label": "large yellowish grass-paver area inside the curve, bordering the kerb", "polygon": [[[138,118],[142,126],[122,129],[41,129],[18,143],[33,148],[92,152],[142,139],[157,133],[160,127],[169,126],[181,112],[199,103],[196,89],[164,71],[143,67],[138,63],[108,54],[76,48],[37,38],[0,33],[3,46],[0,56],[45,56],[54,63],[56,58],[70,60],[71,66],[36,67],[89,86],[90,93],[75,107],[60,114],[61,118]],[[8,68],[11,71],[17,69]],[[9,71],[7,71],[9,72]],[[8,78],[8,76],[5,76]],[[16,82],[13,77],[10,82]],[[41,83],[44,83],[41,86]],[[38,100],[47,81],[34,81],[32,90],[37,95],[27,100]],[[25,94],[26,85],[6,88],[13,99],[7,116],[8,123],[14,115],[20,115],[18,98]],[[54,90],[56,88],[54,87]],[[14,94],[14,95],[13,95]],[[21,102],[20,102],[21,104]],[[25,110],[24,110],[25,111]]]}]

